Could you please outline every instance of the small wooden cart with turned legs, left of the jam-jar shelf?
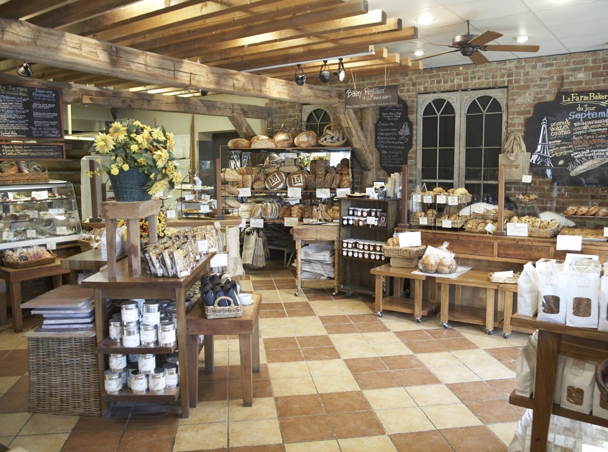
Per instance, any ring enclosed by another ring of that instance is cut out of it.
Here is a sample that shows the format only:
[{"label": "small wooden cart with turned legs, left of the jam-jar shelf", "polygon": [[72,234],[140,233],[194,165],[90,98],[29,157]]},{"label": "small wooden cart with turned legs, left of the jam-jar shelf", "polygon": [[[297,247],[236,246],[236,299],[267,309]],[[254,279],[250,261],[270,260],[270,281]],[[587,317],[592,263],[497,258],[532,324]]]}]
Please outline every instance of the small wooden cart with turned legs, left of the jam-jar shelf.
[{"label": "small wooden cart with turned legs, left of the jam-jar shelf", "polygon": [[[302,257],[300,250],[302,242],[334,242],[334,291],[332,295],[337,295],[339,290],[338,274],[339,274],[339,248],[340,248],[340,228],[338,223],[327,224],[298,224],[292,228],[292,235],[295,240],[295,285],[297,287],[295,296],[300,294],[302,290]],[[316,281],[316,279],[308,279]]]}]

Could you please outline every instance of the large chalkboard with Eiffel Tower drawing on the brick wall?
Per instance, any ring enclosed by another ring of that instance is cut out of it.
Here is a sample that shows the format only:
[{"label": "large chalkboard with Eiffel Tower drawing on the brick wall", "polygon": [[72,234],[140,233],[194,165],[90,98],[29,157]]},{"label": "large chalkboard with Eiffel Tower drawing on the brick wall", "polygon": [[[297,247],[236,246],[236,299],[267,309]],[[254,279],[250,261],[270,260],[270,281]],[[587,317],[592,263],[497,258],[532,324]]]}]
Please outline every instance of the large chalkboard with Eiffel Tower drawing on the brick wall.
[{"label": "large chalkboard with Eiffel Tower drawing on the brick wall", "polygon": [[[526,120],[530,166],[571,176],[608,164],[608,91],[560,92]],[[582,175],[585,177],[585,175]]]}]

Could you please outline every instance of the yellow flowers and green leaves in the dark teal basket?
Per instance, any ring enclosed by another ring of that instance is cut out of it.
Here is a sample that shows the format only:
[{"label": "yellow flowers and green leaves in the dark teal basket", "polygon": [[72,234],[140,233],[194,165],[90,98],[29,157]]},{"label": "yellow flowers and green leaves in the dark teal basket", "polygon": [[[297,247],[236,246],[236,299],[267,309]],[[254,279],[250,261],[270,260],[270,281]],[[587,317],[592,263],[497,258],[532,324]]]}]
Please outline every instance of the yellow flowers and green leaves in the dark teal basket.
[{"label": "yellow flowers and green leaves in the dark teal basket", "polygon": [[[151,128],[139,121],[126,126],[114,122],[95,137],[91,151],[111,157],[109,164],[102,165],[97,174],[103,171],[116,176],[120,171],[136,169],[150,176],[143,188],[154,195],[172,188],[181,180],[175,165],[174,144],[173,134],[165,131],[164,127]],[[92,176],[93,173],[87,174]]]}]

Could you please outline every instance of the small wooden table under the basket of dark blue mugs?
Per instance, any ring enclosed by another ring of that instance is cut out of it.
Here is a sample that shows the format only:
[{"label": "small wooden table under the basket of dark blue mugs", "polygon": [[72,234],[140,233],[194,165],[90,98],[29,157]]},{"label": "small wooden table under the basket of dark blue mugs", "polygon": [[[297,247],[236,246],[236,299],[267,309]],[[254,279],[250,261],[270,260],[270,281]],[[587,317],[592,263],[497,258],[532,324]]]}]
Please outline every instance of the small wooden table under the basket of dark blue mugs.
[{"label": "small wooden table under the basket of dark blue mugs", "polygon": [[[190,406],[198,403],[198,336],[204,335],[205,372],[213,372],[213,335],[238,335],[241,356],[243,406],[252,406],[254,390],[252,372],[260,372],[260,308],[261,296],[252,295],[253,304],[243,306],[243,316],[227,319],[207,319],[199,302],[186,318],[188,354],[188,397]],[[181,355],[181,353],[180,353]],[[181,357],[180,357],[181,366]],[[183,369],[183,368],[182,368]],[[184,370],[182,370],[184,372]]]}]

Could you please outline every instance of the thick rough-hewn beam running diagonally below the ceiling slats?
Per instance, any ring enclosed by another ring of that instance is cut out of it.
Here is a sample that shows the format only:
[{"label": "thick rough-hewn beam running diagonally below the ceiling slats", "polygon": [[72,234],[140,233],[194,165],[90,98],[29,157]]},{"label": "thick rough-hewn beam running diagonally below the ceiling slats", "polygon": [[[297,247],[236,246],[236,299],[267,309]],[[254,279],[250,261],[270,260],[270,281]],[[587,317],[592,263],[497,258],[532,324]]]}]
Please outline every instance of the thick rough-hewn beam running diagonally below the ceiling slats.
[{"label": "thick rough-hewn beam running diagonally below the ceiling slats", "polygon": [[333,105],[344,98],[344,92],[339,89],[300,86],[296,90],[292,82],[222,68],[210,68],[205,64],[176,60],[2,18],[0,18],[0,55],[92,74],[135,80],[142,84],[202,88],[206,91],[226,94],[263,99],[291,99],[297,103],[325,105]]}]

